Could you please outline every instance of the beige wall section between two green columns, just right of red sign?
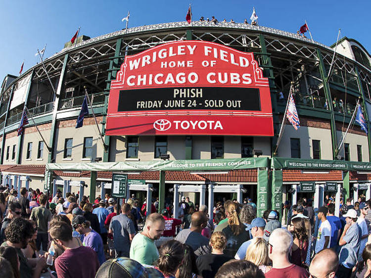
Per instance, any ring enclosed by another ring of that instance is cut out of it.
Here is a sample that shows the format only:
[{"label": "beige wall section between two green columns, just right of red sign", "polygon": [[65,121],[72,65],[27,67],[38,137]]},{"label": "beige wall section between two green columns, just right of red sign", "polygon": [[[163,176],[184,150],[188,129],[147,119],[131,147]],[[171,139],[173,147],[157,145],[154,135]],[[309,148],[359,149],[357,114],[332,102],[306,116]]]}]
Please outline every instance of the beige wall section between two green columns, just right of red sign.
[{"label": "beige wall section between two green columns, just right of red sign", "polygon": [[300,127],[296,131],[292,125],[286,125],[278,147],[278,157],[291,157],[291,138],[300,139],[301,158],[313,158],[312,140],[321,140],[321,158],[332,159],[331,131],[329,129]]}]

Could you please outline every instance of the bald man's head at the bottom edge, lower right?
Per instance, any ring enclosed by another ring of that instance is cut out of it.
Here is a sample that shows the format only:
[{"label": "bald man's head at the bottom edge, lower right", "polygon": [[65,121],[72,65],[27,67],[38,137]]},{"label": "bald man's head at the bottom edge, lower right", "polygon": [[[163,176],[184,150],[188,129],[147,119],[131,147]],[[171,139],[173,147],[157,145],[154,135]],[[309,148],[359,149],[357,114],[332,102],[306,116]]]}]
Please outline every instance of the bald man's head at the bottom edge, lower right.
[{"label": "bald man's head at the bottom edge, lower right", "polygon": [[335,277],[337,267],[339,266],[339,258],[332,249],[324,249],[314,256],[309,273],[313,277]]}]

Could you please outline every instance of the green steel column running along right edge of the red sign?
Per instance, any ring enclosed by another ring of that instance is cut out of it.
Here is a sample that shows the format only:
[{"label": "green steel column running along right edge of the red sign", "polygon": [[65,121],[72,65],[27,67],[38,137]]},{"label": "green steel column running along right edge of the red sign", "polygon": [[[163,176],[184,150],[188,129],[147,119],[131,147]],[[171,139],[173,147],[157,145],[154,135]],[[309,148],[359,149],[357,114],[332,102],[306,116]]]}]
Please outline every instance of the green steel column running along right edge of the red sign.
[{"label": "green steel column running along right edge of the red sign", "polygon": [[[279,126],[279,119],[277,115],[277,88],[275,84],[275,77],[273,74],[273,65],[272,60],[270,57],[270,53],[267,51],[267,46],[265,44],[265,38],[262,34],[259,35],[260,47],[262,51],[262,62],[263,62],[263,69],[264,69],[264,76],[268,77],[269,81],[269,88],[271,90],[271,102],[272,102],[272,112],[273,112],[273,127],[274,127],[274,134],[275,136],[272,138],[272,151],[275,149],[277,139],[278,139],[278,130],[276,130],[276,126]],[[272,153],[273,156],[273,153]]]}]

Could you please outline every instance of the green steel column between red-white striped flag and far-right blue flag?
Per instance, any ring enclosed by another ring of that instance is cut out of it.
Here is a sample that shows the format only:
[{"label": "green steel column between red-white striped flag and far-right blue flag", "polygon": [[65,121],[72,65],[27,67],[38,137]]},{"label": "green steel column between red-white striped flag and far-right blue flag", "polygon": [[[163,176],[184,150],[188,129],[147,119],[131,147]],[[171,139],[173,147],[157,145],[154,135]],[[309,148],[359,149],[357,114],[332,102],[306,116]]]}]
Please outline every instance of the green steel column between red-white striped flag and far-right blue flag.
[{"label": "green steel column between red-white striped flag and far-right blue flag", "polygon": [[328,86],[327,73],[326,73],[324,61],[322,59],[322,53],[321,53],[321,50],[318,48],[317,48],[317,56],[320,62],[319,67],[320,67],[321,79],[322,79],[322,83],[324,84],[324,91],[325,91],[325,96],[327,100],[327,105],[330,111],[332,159],[336,159],[337,139],[336,139],[335,117],[333,114],[333,107],[332,107],[332,97],[331,97],[330,87]]}]

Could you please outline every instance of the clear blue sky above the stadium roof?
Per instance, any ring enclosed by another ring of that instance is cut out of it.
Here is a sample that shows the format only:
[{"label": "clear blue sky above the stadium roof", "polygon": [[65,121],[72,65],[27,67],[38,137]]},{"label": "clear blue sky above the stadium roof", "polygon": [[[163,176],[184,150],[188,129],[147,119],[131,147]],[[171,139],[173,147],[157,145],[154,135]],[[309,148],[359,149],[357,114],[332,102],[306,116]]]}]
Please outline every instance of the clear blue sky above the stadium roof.
[{"label": "clear blue sky above the stadium roof", "polygon": [[[1,1],[0,82],[38,62],[37,48],[45,44],[45,57],[60,51],[81,26],[91,38],[125,27],[121,19],[130,10],[129,27],[184,21],[189,1],[184,0],[38,0]],[[219,21],[243,22],[253,6],[259,24],[295,33],[307,20],[313,39],[325,45],[341,35],[358,40],[371,52],[371,0],[198,0],[192,3],[193,20],[214,15]]]}]

